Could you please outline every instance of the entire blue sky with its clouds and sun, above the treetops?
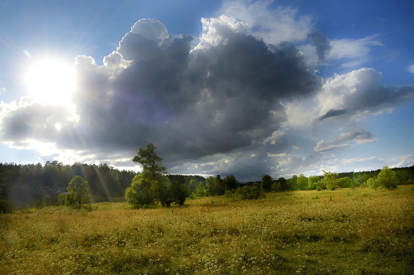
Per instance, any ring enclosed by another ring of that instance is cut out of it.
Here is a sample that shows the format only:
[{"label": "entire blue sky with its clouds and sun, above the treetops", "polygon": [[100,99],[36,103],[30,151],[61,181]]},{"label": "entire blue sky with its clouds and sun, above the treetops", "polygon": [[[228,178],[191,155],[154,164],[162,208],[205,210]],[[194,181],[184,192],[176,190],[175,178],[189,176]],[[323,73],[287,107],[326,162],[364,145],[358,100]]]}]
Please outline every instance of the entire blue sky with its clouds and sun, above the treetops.
[{"label": "entire blue sky with its clouds and sun, above the treetops", "polygon": [[414,165],[412,1],[0,0],[0,162]]}]

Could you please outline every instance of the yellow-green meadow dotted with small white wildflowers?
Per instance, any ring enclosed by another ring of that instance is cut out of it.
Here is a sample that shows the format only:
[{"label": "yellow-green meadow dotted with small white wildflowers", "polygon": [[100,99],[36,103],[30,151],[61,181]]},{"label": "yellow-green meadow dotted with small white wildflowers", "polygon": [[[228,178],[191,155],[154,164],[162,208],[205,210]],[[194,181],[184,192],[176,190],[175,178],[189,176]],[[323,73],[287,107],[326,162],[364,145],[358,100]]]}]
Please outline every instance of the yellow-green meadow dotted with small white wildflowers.
[{"label": "yellow-green meadow dotted with small white wildflowers", "polygon": [[414,187],[0,216],[0,274],[413,274]]}]

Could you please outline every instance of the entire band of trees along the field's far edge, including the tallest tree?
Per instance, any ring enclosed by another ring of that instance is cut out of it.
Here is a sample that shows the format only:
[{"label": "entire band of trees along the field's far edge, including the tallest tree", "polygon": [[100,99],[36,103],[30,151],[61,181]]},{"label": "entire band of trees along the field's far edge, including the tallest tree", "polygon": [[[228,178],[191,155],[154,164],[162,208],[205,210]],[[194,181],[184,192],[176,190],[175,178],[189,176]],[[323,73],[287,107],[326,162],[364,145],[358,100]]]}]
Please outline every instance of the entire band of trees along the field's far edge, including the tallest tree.
[{"label": "entire band of trees along the field's far edge, including the tallest tree", "polygon": [[[232,200],[258,199],[265,197],[265,192],[287,190],[335,190],[352,187],[396,188],[399,184],[412,184],[414,166],[405,168],[388,168],[357,173],[332,173],[323,171],[323,175],[306,177],[293,175],[286,179],[273,179],[271,175],[262,175],[260,181],[240,183],[234,175],[221,175],[204,178],[199,175],[171,175],[162,164],[162,158],[156,154],[156,147],[148,144],[140,148],[132,161],[143,167],[141,173],[118,170],[107,164],[63,165],[58,161],[47,161],[44,166],[38,164],[0,163],[0,199],[8,199],[17,207],[41,206],[42,204],[66,204],[80,207],[89,195],[70,194],[68,183],[76,176],[79,183],[84,183],[84,190],[91,194],[89,202],[113,201],[125,197],[134,205],[160,203],[171,206],[182,205],[186,198],[225,195]],[[355,179],[355,182],[354,182]],[[66,196],[58,195],[64,193]],[[75,197],[77,199],[75,199]],[[77,201],[79,198],[82,200]],[[46,198],[46,199],[45,199]],[[4,202],[2,202],[4,203]],[[35,203],[35,205],[33,205]]]}]

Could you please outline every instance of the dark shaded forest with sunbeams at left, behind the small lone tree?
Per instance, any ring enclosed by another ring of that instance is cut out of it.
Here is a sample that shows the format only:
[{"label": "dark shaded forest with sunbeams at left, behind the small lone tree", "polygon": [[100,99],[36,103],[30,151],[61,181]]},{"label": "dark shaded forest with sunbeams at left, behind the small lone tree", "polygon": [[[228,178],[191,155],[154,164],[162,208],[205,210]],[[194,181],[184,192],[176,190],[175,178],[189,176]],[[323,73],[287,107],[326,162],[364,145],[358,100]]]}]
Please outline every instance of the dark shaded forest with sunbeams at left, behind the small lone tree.
[{"label": "dark shaded forest with sunbeams at left, behind the small lone tree", "polygon": [[120,171],[107,164],[63,165],[58,161],[38,164],[0,163],[1,198],[8,199],[16,207],[24,207],[39,202],[49,195],[54,202],[61,192],[66,192],[67,184],[76,176],[88,182],[91,201],[108,200],[123,196],[126,187],[131,185],[134,171]]}]

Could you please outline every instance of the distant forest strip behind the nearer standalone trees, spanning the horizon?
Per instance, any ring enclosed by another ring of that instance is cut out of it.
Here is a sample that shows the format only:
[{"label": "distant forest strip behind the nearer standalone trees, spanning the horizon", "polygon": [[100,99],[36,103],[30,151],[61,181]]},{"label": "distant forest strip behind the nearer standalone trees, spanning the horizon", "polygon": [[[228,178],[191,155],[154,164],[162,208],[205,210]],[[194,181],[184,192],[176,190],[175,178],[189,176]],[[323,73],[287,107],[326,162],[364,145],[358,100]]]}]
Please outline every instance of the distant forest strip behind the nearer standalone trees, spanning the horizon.
[{"label": "distant forest strip behind the nearer standalone trees, spanning the horizon", "polygon": [[[391,170],[395,172],[397,185],[413,184],[414,166],[391,168]],[[263,192],[330,189],[322,180],[327,176],[337,179],[336,185],[339,188],[353,187],[354,177],[356,187],[375,188],[370,186],[373,184],[370,179],[375,180],[380,171],[378,169],[355,173],[325,172],[324,175],[312,175],[308,178],[301,174],[288,179],[283,177],[273,179],[270,175],[263,175],[261,180],[248,183],[239,182],[233,175],[224,178],[220,175],[207,178],[200,175],[166,174],[165,176],[171,183],[175,183],[175,186],[182,187],[181,197],[185,200],[187,197],[223,195],[226,191],[237,187],[255,185]],[[0,199],[8,200],[16,208],[39,208],[42,203],[56,205],[58,195],[66,193],[68,183],[79,175],[87,182],[90,195],[87,202],[123,201],[125,190],[139,174],[131,170],[119,170],[107,164],[63,165],[58,161],[46,161],[44,165],[0,163]]]}]

